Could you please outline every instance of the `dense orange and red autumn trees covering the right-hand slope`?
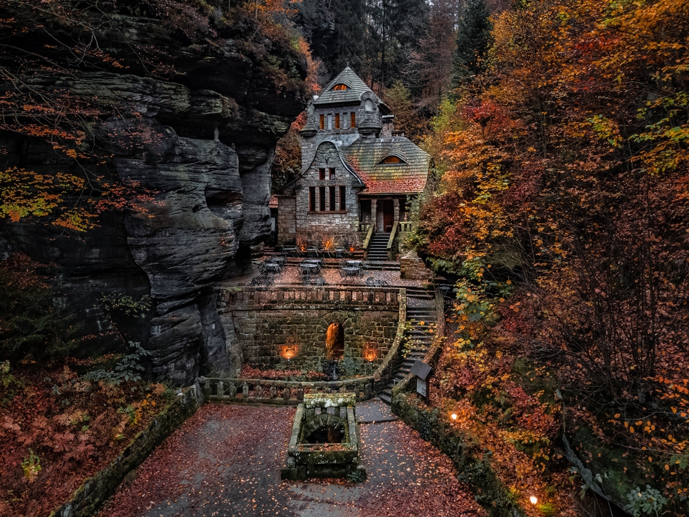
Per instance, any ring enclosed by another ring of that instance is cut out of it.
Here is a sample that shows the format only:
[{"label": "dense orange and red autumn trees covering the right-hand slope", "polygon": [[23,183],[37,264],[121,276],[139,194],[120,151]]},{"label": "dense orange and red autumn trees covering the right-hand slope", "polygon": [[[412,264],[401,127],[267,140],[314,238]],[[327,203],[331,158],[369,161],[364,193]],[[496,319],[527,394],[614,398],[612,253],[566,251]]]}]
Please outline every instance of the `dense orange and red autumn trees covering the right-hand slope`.
[{"label": "dense orange and red autumn trees covering the right-hand slope", "polygon": [[[413,236],[460,278],[438,404],[469,398],[493,436],[586,425],[638,452],[674,514],[689,455],[688,12],[546,0],[493,17],[486,72],[426,139],[443,175]],[[555,420],[520,416],[542,404]]]}]

